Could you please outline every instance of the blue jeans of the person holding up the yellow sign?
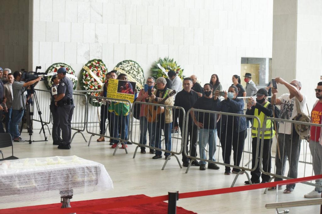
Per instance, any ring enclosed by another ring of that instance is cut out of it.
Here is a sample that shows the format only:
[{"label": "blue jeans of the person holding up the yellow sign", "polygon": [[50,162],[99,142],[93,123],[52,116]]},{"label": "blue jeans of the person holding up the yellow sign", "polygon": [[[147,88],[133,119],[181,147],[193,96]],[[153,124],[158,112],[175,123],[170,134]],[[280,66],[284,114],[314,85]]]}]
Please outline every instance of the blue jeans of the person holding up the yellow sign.
[{"label": "blue jeans of the person holding up the yellow sign", "polygon": [[[128,139],[128,122],[129,122],[129,115],[122,116],[122,115],[115,115],[111,114],[111,123],[113,123],[113,127],[111,127],[111,137],[118,138],[118,127],[120,127],[121,132],[121,139],[126,140]],[[113,143],[118,143],[119,140],[112,139]],[[128,141],[124,141],[127,144]]]}]

